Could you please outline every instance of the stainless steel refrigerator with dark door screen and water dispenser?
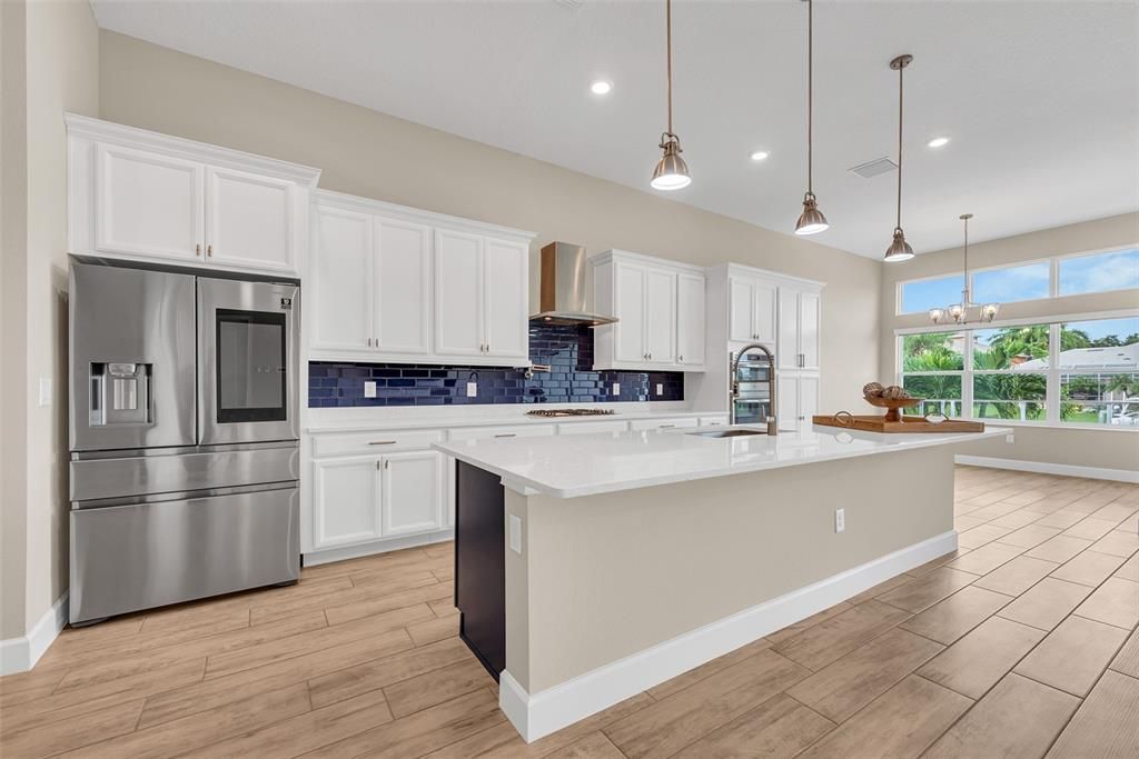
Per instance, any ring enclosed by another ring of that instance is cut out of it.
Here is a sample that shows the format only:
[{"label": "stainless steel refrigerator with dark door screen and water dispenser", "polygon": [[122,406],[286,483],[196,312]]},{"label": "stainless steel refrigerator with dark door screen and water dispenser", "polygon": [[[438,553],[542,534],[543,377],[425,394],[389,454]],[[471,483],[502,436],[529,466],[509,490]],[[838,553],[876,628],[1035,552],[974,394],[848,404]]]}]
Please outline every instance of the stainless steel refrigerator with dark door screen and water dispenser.
[{"label": "stainless steel refrigerator with dark door screen and water dispenser", "polygon": [[71,621],[300,576],[298,282],[72,257]]}]

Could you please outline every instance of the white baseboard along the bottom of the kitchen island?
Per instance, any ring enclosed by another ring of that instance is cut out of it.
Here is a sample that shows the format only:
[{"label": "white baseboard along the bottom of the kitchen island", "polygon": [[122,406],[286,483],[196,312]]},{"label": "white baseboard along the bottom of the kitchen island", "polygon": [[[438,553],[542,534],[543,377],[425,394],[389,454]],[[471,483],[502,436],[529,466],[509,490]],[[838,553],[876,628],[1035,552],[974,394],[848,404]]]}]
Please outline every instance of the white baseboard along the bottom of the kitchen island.
[{"label": "white baseboard along the bottom of the kitchen island", "polygon": [[957,533],[942,533],[539,693],[503,671],[499,708],[527,743],[536,741],[956,548]]}]

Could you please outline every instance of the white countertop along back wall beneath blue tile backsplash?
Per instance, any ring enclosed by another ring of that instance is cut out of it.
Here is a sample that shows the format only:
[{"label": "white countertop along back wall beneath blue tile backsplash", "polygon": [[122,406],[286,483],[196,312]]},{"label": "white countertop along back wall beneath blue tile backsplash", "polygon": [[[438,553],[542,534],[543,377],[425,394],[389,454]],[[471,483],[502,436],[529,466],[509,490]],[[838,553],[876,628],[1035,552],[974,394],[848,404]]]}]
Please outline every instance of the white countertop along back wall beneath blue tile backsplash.
[{"label": "white countertop along back wall beneath blue tile backsplash", "polygon": [[[516,406],[517,407],[517,406]],[[543,406],[544,407],[544,406]],[[587,404],[573,407],[589,407]],[[329,410],[334,411],[334,410]],[[343,410],[337,410],[342,411]],[[310,419],[305,426],[305,431],[312,435],[323,432],[354,432],[371,430],[401,430],[401,429],[449,429],[456,427],[497,427],[516,424],[563,424],[573,422],[601,422],[601,421],[633,421],[638,419],[691,419],[704,416],[727,418],[726,411],[691,411],[688,409],[644,409],[630,411],[615,411],[612,414],[596,414],[589,416],[527,416],[526,409],[518,409],[514,413],[486,412],[470,409],[467,413],[456,413],[453,415],[377,415],[353,414],[350,419],[333,420],[329,415],[320,419]]]}]

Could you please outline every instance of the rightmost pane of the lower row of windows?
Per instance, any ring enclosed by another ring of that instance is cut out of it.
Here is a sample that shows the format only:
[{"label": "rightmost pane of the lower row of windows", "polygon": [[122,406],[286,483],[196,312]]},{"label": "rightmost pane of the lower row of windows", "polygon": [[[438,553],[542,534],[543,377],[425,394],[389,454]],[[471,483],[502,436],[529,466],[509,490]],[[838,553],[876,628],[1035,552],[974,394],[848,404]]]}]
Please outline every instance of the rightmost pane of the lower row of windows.
[{"label": "rightmost pane of the lower row of windows", "polygon": [[1060,420],[1139,426],[1139,317],[1059,328]]}]

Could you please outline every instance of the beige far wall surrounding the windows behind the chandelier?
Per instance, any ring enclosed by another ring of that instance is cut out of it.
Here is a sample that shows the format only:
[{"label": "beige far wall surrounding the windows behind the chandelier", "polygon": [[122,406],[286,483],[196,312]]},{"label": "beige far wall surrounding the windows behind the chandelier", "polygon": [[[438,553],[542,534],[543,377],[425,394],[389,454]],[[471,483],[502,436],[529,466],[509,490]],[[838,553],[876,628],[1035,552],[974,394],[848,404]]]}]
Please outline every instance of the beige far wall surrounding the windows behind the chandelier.
[{"label": "beige far wall surrounding the windows behind the chandelier", "polygon": [[[1083,253],[1139,242],[1139,213],[1057,226],[969,246],[969,267],[984,269]],[[961,249],[952,248],[917,256],[903,264],[882,267],[880,345],[883,378],[895,372],[894,330],[924,327],[925,314],[896,315],[895,292],[903,280],[948,274],[961,270]],[[1001,319],[1041,319],[1107,311],[1139,308],[1139,290],[1118,290],[1049,300],[1009,303]],[[885,381],[885,379],[883,380]],[[1139,471],[1139,432],[1133,430],[1084,430],[1017,426],[1016,442],[982,440],[961,453],[1017,461],[1038,461],[1076,467],[1099,467]]]}]

